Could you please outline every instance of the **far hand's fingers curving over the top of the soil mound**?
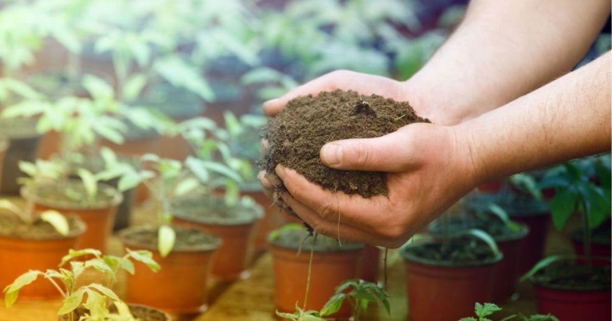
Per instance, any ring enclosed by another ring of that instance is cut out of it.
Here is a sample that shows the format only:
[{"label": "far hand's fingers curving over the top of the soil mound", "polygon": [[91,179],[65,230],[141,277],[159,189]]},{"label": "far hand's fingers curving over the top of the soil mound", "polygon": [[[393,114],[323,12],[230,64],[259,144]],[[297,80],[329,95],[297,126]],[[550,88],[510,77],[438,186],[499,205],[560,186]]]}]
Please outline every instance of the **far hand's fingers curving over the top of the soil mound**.
[{"label": "far hand's fingers curving over the top of the soil mound", "polygon": [[362,95],[381,95],[387,98],[401,99],[404,87],[400,82],[382,76],[367,75],[365,73],[337,70],[316,78],[302,86],[290,90],[280,98],[266,101],[263,104],[264,114],[269,117],[276,116],[285,108],[287,102],[293,98],[305,95],[316,95],[322,91],[335,89],[355,90]]}]

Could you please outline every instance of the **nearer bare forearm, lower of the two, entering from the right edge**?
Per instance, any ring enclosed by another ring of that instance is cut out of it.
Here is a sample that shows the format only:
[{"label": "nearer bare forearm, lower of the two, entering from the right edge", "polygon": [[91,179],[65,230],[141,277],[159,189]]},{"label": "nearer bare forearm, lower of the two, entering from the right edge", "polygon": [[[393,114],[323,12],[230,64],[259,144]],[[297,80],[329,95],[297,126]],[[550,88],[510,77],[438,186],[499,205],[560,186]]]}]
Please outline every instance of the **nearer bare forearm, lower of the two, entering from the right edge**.
[{"label": "nearer bare forearm, lower of the two, entering from the right edge", "polygon": [[499,109],[455,126],[477,180],[610,150],[610,52]]}]

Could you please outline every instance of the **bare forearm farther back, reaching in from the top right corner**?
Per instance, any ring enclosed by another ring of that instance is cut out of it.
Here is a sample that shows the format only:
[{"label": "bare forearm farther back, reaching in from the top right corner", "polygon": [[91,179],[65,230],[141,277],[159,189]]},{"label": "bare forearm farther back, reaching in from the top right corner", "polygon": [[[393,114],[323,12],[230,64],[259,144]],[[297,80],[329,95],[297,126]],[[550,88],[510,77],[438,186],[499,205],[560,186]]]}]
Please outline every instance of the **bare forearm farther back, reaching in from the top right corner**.
[{"label": "bare forearm farther back, reaching in from the top right corner", "polygon": [[452,114],[449,124],[502,106],[568,72],[609,13],[609,1],[474,0],[457,31],[406,83],[418,92],[412,103],[433,119]]}]

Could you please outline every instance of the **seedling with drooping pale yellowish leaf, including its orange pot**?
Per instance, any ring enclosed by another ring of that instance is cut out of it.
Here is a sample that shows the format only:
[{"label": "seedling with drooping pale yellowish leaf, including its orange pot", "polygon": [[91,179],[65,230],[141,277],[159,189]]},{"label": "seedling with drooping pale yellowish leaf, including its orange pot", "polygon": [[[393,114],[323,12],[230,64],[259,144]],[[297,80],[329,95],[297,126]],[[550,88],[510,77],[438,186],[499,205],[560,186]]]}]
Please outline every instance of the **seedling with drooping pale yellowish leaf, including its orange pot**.
[{"label": "seedling with drooping pale yellowish leaf, including its orange pot", "polygon": [[[162,271],[154,274],[145,270],[129,275],[127,300],[179,314],[204,311],[209,271],[220,240],[198,229],[171,225],[174,213],[170,206],[173,197],[196,190],[200,181],[177,160],[147,154],[141,157],[141,162],[141,168],[149,169],[125,167],[119,187],[133,188],[144,183],[158,205],[154,213],[157,225],[128,227],[119,235],[130,248],[151,250]],[[136,267],[139,268],[142,267]]]}]

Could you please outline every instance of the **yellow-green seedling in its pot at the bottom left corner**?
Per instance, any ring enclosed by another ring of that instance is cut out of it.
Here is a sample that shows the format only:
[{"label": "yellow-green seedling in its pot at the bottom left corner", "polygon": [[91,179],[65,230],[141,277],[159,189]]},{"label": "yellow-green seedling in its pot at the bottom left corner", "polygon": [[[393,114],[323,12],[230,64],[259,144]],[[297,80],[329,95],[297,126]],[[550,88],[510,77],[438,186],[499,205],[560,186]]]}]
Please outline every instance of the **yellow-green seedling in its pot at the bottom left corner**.
[{"label": "yellow-green seedling in its pot at the bottom left corner", "polygon": [[[113,292],[116,273],[125,270],[133,274],[134,262],[146,264],[152,271],[159,271],[159,265],[148,251],[131,251],[122,257],[102,256],[96,249],[70,250],[56,270],[29,270],[4,288],[4,303],[10,308],[17,301],[21,289],[39,277],[50,282],[63,298],[58,311],[60,321],[76,320],[126,320],[126,321],[170,321],[170,316],[146,306],[126,304]],[[77,257],[88,256],[92,259],[73,261]],[[70,264],[70,268],[62,268]],[[88,268],[95,268],[106,276],[106,285],[100,283],[81,284],[80,277]]]}]

